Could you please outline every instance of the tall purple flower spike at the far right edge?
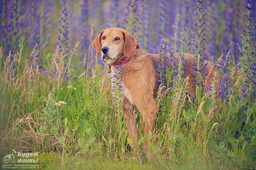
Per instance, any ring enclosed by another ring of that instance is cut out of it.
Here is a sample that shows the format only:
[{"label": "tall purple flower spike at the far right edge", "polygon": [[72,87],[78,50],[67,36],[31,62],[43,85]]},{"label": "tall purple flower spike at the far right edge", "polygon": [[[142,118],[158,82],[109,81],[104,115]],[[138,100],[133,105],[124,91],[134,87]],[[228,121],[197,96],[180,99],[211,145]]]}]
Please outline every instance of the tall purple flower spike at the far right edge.
[{"label": "tall purple flower spike at the far right edge", "polygon": [[254,0],[246,0],[247,5],[244,7],[247,9],[244,12],[245,22],[244,35],[239,37],[242,43],[242,49],[240,50],[243,58],[244,73],[246,74],[245,86],[242,88],[242,103],[241,111],[244,112],[248,109],[250,102],[255,103],[256,100],[256,58],[255,58],[255,37],[256,37],[256,24],[255,15],[253,12]]}]

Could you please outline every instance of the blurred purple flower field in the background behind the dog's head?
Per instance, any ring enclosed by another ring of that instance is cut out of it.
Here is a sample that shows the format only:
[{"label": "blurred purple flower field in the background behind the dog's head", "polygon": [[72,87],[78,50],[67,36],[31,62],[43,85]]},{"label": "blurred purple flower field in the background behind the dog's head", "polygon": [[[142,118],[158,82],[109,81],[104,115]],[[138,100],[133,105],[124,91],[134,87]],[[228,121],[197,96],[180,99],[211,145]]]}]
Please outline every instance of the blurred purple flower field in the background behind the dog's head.
[{"label": "blurred purple flower field in the background behind the dog's head", "polygon": [[[92,40],[102,29],[120,27],[134,37],[138,35],[140,48],[150,53],[158,53],[162,38],[169,40],[170,50],[179,51],[179,35],[183,32],[185,49],[192,53],[196,1],[3,0],[0,3],[0,46],[4,47],[5,54],[18,49],[21,37],[28,41],[27,48],[38,44],[40,49],[47,42],[46,49],[53,50],[59,45],[65,47],[67,53],[79,41],[80,54],[74,58],[78,67],[84,54],[89,54],[92,23]],[[207,60],[214,61],[230,50],[231,58],[239,62],[241,44],[238,36],[243,33],[245,4],[241,0],[205,2],[208,13],[205,17]],[[96,55],[94,50],[90,53]],[[104,64],[98,59],[98,63]],[[91,60],[96,62],[94,57]]]}]

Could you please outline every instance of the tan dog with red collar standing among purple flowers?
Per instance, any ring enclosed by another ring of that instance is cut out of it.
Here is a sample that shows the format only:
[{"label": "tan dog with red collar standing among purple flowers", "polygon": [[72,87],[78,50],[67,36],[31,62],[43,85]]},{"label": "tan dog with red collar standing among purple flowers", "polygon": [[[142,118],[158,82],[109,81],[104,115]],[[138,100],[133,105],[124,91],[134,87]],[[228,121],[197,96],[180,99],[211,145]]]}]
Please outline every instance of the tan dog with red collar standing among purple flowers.
[{"label": "tan dog with red collar standing among purple flowers", "polygon": [[[124,119],[129,136],[133,141],[137,141],[137,123],[135,117],[131,114],[134,109],[138,108],[142,113],[145,123],[144,136],[147,136],[153,130],[155,117],[158,111],[153,94],[158,91],[159,83],[157,82],[157,65],[158,54],[148,54],[136,48],[136,40],[131,33],[120,28],[108,28],[102,30],[92,42],[93,48],[101,55],[110,65],[122,64],[123,67],[123,89],[124,89]],[[178,53],[174,53],[176,59],[179,58]],[[192,78],[195,76],[191,73],[191,60],[194,55],[185,54],[185,75],[189,76],[190,85],[188,94],[194,95]],[[205,61],[205,63],[208,63]],[[112,73],[116,71],[115,67],[110,67]],[[211,70],[211,71],[210,71]],[[208,85],[213,82],[214,72],[217,71],[212,64],[208,63],[206,72],[209,76],[206,80]],[[219,74],[216,76],[215,88],[218,89]],[[113,80],[112,80],[113,81]],[[143,144],[144,152],[148,150],[148,143]]]}]

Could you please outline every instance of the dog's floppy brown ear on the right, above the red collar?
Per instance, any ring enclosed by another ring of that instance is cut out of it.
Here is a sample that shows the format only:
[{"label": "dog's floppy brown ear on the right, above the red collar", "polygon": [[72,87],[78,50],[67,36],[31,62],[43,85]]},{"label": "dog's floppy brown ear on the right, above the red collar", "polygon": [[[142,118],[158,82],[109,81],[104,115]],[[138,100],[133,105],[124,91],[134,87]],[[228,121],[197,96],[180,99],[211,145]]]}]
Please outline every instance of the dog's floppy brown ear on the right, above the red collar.
[{"label": "dog's floppy brown ear on the right, above the red collar", "polygon": [[128,33],[127,31],[123,31],[123,35],[124,35],[123,53],[124,53],[124,56],[129,57],[134,53],[137,42],[131,33]]}]

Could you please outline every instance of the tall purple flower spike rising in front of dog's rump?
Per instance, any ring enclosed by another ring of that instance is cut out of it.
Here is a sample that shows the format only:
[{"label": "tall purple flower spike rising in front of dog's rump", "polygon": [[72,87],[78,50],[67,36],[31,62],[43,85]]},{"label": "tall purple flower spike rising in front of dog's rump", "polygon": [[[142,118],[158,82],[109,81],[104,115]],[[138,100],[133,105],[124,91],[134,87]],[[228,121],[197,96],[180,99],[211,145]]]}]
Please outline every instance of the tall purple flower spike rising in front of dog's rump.
[{"label": "tall purple flower spike rising in front of dog's rump", "polygon": [[192,48],[193,55],[195,55],[196,58],[192,60],[193,68],[191,68],[191,73],[195,75],[196,85],[202,85],[204,90],[204,84],[203,79],[206,78],[207,73],[205,71],[204,66],[207,65],[207,63],[204,63],[207,57],[206,48],[205,48],[205,41],[206,41],[206,27],[205,27],[205,17],[207,15],[206,12],[206,6],[204,4],[204,0],[197,0],[196,3],[196,16],[195,21],[197,22],[194,24],[194,32],[192,33],[195,38],[192,39],[192,44],[194,45],[194,48]]}]

